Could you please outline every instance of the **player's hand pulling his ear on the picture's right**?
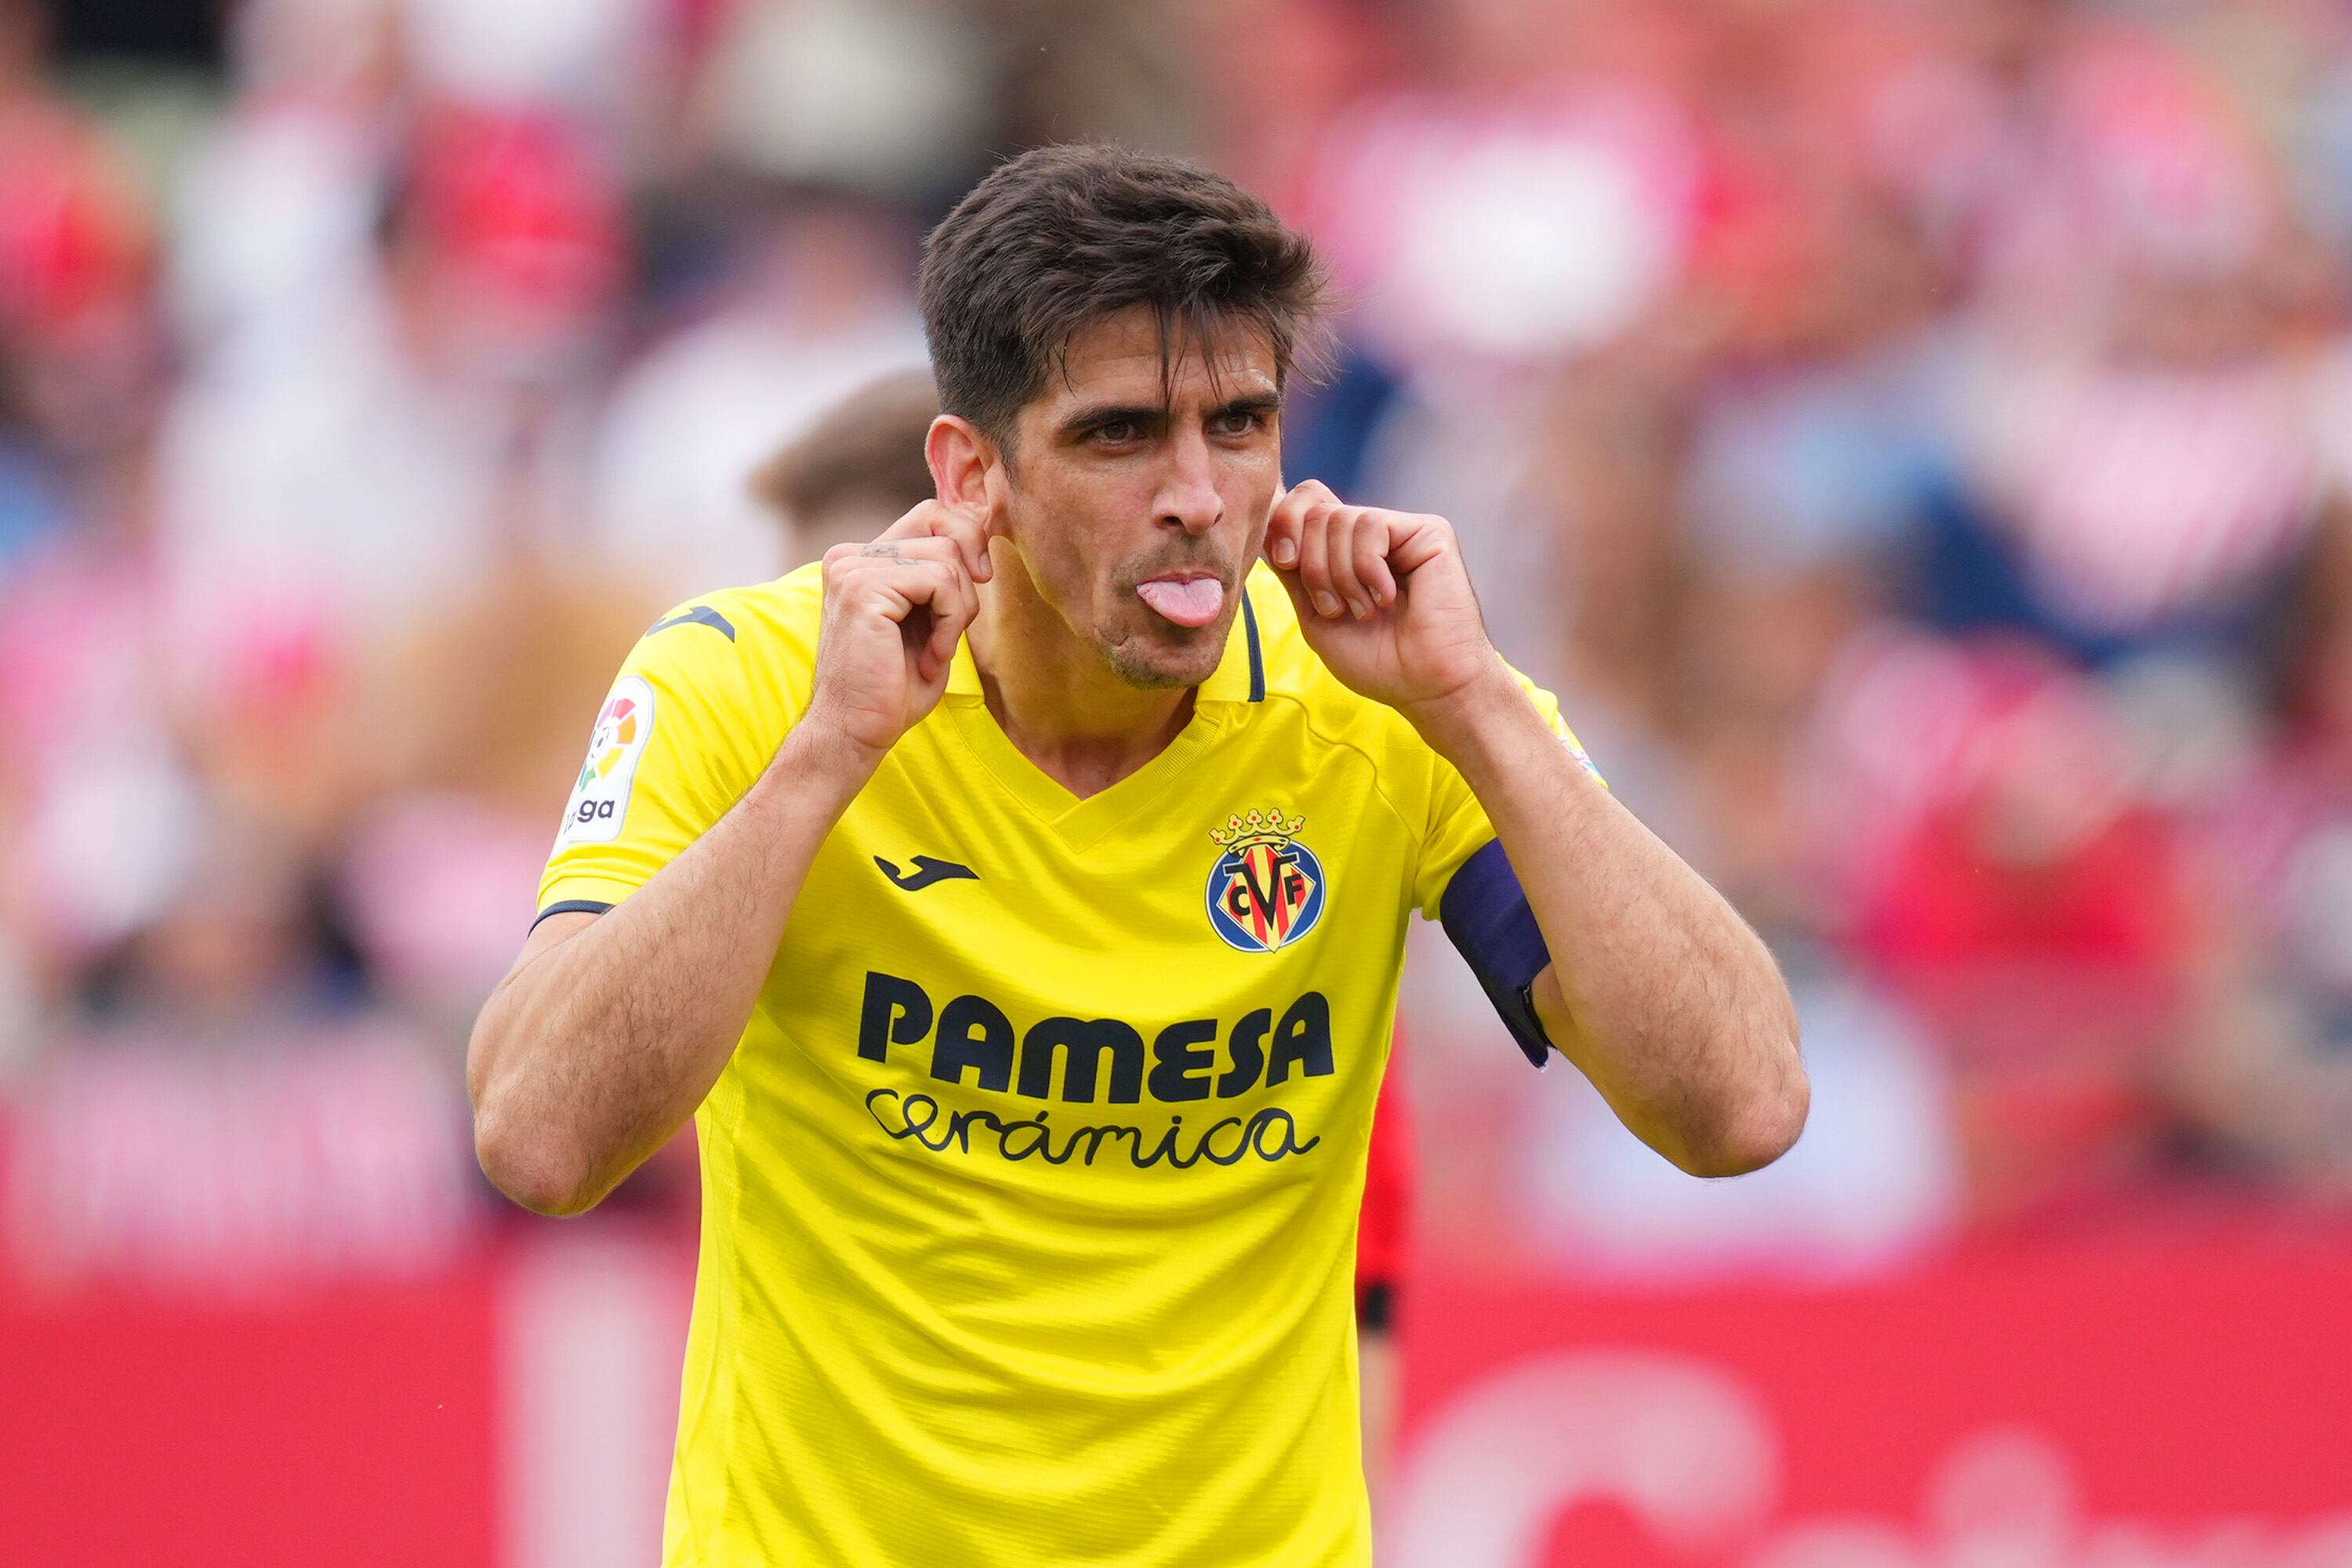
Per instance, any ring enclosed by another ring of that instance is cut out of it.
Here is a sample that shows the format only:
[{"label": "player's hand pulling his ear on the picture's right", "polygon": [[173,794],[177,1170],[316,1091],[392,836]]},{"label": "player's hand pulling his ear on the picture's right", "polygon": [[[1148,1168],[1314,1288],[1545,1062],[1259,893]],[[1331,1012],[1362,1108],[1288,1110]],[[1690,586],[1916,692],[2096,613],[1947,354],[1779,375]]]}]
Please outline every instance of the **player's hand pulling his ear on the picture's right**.
[{"label": "player's hand pulling his ear on the picture's right", "polygon": [[1444,517],[1348,505],[1308,480],[1275,501],[1265,559],[1331,675],[1416,724],[1503,675]]}]

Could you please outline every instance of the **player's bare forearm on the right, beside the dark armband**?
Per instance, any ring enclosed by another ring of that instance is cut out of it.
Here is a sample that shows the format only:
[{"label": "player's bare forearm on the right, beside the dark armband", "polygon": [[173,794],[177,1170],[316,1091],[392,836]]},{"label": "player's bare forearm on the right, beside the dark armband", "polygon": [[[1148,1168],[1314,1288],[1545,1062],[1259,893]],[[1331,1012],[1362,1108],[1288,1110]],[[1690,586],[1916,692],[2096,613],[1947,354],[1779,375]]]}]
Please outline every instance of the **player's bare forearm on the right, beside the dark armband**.
[{"label": "player's bare forearm on the right, beside the dark armband", "polygon": [[1545,1032],[1677,1166],[1731,1175],[1804,1126],[1797,1013],[1771,952],[1503,679],[1423,715],[1526,889],[1552,964]]}]

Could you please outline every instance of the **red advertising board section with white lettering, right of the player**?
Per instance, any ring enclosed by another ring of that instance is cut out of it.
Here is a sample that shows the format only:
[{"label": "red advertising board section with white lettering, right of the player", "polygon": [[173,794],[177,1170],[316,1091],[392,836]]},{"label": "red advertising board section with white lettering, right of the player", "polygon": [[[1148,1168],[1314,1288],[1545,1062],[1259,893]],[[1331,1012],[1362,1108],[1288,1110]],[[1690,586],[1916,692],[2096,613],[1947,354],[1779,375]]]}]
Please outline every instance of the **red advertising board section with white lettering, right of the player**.
[{"label": "red advertising board section with white lettering, right of the player", "polygon": [[2352,1246],[1832,1288],[1430,1279],[1397,1568],[2352,1566]]}]

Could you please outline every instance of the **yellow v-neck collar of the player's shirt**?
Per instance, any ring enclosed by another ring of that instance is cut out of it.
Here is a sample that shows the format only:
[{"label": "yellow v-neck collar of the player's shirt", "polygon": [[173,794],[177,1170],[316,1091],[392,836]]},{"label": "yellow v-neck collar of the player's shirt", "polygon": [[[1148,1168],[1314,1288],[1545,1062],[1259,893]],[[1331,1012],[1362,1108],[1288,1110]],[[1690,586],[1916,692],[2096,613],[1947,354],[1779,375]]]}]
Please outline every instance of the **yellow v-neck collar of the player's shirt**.
[{"label": "yellow v-neck collar of the player's shirt", "polygon": [[1108,790],[1080,799],[1014,745],[997,717],[988,712],[981,668],[971,661],[969,642],[955,644],[948,689],[938,708],[1007,795],[1061,835],[1070,849],[1091,849],[1112,827],[1160,799],[1200,757],[1202,748],[1225,729],[1237,705],[1263,701],[1265,649],[1258,639],[1258,611],[1244,585],[1242,614],[1232,618],[1232,630],[1225,635],[1225,654],[1216,661],[1209,679],[1192,689],[1192,717],[1160,748],[1157,757]]}]

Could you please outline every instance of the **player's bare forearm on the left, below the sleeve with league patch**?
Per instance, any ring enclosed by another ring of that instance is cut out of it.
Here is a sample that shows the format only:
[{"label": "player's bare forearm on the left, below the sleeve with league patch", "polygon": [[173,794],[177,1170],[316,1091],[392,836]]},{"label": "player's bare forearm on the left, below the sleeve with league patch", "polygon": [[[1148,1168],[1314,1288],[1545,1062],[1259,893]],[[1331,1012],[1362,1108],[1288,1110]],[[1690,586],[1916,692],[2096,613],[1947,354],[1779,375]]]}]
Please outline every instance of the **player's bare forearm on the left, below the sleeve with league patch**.
[{"label": "player's bare forearm on the left, below the sleeve with league patch", "polygon": [[804,736],[670,865],[485,1004],[468,1048],[475,1147],[515,1201],[593,1206],[727,1067],[800,884],[870,776],[866,757]]}]

